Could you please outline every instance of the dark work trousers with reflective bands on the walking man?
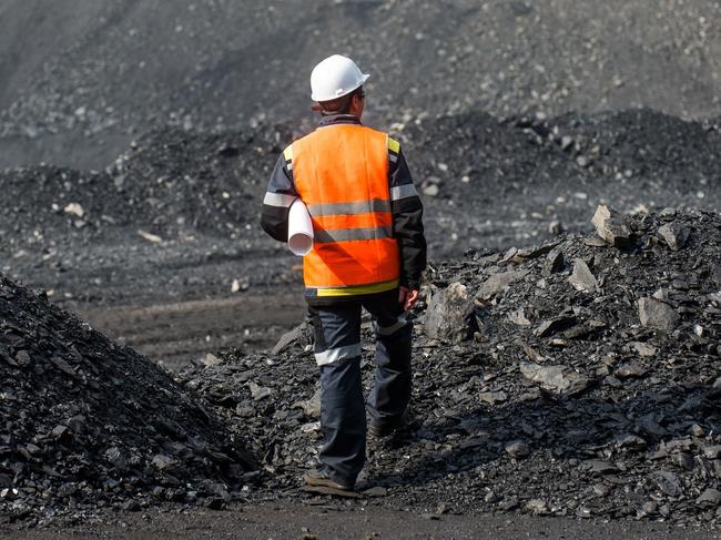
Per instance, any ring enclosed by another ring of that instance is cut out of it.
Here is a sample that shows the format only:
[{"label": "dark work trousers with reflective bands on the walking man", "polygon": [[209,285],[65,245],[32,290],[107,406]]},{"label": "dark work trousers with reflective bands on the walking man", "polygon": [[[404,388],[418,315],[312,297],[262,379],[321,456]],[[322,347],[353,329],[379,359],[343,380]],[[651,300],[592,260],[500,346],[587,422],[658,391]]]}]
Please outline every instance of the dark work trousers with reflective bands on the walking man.
[{"label": "dark work trousers with reflective bands on the walking man", "polygon": [[363,469],[366,449],[362,307],[373,316],[376,335],[375,386],[367,404],[370,422],[380,427],[398,421],[410,400],[413,326],[398,303],[398,289],[309,308],[321,368],[321,428],[325,437],[318,459],[333,479],[348,485],[355,483]]}]

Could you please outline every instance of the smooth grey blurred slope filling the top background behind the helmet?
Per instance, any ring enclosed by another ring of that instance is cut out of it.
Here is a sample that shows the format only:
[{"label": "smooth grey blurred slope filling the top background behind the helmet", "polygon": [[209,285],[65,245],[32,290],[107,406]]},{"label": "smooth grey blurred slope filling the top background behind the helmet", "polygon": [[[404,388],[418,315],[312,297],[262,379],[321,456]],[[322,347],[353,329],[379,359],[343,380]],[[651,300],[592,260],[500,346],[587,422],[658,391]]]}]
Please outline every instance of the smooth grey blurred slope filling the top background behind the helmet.
[{"label": "smooth grey blurred slope filling the top background behind the helmet", "polygon": [[99,167],[153,126],[299,120],[332,52],[373,74],[382,125],[477,109],[718,115],[720,20],[714,0],[8,0],[0,166]]}]

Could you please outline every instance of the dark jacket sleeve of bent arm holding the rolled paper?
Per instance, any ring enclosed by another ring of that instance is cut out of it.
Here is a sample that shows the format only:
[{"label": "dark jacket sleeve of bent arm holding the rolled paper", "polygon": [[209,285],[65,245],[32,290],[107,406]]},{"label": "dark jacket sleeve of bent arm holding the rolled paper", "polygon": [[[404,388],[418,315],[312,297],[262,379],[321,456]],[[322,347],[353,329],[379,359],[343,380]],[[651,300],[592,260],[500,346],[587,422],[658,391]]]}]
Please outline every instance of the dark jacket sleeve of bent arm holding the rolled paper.
[{"label": "dark jacket sleeve of bent arm holding the rolled paper", "polygon": [[261,214],[263,231],[278,242],[287,242],[288,240],[288,212],[296,198],[298,198],[298,193],[293,183],[292,156],[288,149],[286,149],[278,156],[271,174]]}]

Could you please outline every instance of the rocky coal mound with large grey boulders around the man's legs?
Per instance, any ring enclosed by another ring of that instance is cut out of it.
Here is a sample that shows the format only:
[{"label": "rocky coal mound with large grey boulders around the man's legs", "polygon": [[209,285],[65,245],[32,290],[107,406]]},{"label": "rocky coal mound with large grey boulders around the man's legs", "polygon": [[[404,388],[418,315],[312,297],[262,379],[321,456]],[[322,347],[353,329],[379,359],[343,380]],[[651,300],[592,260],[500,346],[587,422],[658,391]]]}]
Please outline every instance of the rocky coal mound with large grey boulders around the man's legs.
[{"label": "rocky coal mound with large grey boulders around the man's legs", "polygon": [[[605,210],[598,234],[431,268],[415,420],[369,444],[378,503],[721,520],[721,216]],[[181,377],[290,493],[321,442],[308,339],[299,327],[271,354]]]}]

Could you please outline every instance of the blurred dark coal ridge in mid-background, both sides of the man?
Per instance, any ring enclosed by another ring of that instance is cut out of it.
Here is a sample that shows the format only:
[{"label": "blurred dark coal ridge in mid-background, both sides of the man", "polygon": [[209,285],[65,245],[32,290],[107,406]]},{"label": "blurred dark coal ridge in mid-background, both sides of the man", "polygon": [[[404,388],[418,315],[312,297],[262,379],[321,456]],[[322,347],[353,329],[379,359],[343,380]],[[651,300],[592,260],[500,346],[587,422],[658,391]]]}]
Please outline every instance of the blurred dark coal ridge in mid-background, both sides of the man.
[{"label": "blurred dark coal ridge in mid-background, both sides of the man", "polygon": [[[528,245],[587,228],[603,201],[620,211],[721,207],[721,134],[649,110],[499,121],[487,113],[393,128],[426,205],[436,256]],[[258,232],[285,125],[216,134],[153,131],[103,172],[28,167],[0,173],[0,249],[45,252],[130,228],[164,240],[201,232],[244,242]],[[28,190],[32,185],[32,190]]]}]

